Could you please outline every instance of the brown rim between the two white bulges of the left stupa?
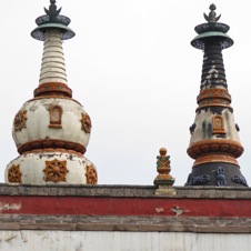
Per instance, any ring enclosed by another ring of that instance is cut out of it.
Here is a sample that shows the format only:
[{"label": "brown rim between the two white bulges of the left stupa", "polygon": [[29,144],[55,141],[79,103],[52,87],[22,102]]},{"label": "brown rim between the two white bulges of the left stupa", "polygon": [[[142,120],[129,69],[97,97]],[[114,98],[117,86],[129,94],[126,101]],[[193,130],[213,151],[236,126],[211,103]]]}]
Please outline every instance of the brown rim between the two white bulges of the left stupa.
[{"label": "brown rim between the two white bulges of the left stupa", "polygon": [[34,149],[47,149],[47,148],[52,148],[52,149],[67,149],[67,150],[73,150],[80,153],[84,153],[87,149],[76,142],[67,141],[67,140],[56,140],[56,139],[44,139],[44,140],[36,140],[36,141],[30,141],[28,143],[24,143],[18,148],[18,152],[20,154],[31,151]]}]

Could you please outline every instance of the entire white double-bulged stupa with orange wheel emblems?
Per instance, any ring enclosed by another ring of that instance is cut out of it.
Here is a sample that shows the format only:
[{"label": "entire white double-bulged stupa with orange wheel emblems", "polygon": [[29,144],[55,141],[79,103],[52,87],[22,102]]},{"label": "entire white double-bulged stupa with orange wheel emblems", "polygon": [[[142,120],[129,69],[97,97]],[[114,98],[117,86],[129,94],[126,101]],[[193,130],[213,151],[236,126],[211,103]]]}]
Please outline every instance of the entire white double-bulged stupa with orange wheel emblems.
[{"label": "entire white double-bulged stupa with orange wheel emblems", "polygon": [[44,41],[39,87],[16,114],[12,135],[20,155],[6,169],[7,183],[96,184],[86,152],[91,120],[68,87],[62,40],[74,32],[56,1],[39,17],[31,36]]}]

